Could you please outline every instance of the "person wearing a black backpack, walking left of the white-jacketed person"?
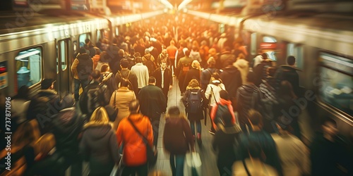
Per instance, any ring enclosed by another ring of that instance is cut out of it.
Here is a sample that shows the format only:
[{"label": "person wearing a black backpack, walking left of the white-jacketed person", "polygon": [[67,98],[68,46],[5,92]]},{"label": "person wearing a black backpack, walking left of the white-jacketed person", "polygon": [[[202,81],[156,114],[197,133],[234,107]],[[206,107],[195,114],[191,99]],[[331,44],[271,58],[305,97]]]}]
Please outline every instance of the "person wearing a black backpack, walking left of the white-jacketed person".
[{"label": "person wearing a black backpack, walking left of the white-jacketed person", "polygon": [[195,122],[198,144],[201,140],[201,120],[203,119],[203,89],[198,84],[198,80],[192,79],[186,87],[183,96],[183,103],[186,108],[187,117],[190,121],[191,132],[195,139]]}]

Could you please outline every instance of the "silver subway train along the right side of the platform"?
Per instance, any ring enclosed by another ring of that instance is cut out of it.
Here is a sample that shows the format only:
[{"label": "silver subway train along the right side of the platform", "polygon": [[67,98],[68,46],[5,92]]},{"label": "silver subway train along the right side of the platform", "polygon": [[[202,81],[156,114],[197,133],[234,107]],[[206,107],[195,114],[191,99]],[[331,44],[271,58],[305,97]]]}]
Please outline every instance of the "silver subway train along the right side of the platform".
[{"label": "silver subway train along the right side of the platform", "polygon": [[352,15],[313,11],[247,16],[187,13],[233,27],[249,52],[249,61],[259,51],[266,52],[276,65],[295,56],[302,96],[292,113],[301,109],[313,131],[319,130],[323,118],[333,118],[342,134],[353,137]]}]

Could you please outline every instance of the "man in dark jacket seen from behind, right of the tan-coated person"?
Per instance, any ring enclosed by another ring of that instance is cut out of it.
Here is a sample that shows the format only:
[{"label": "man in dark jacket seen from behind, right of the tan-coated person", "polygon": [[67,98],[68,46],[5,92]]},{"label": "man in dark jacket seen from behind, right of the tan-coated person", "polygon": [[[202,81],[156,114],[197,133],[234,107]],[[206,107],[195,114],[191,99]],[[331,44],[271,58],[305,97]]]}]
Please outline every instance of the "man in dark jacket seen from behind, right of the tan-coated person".
[{"label": "man in dark jacket seen from behind, right of the tan-coated person", "polygon": [[160,114],[167,109],[167,101],[160,87],[155,86],[155,77],[148,79],[148,86],[140,89],[138,101],[143,115],[150,118],[153,128],[153,145],[157,147],[158,132],[160,127]]}]

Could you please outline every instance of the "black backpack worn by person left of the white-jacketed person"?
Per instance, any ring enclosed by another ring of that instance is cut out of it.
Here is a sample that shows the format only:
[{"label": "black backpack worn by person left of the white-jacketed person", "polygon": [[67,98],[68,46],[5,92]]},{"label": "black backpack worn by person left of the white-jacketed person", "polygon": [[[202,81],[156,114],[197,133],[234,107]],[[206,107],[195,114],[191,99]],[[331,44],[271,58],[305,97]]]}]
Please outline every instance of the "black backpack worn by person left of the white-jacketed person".
[{"label": "black backpack worn by person left of the white-jacketed person", "polygon": [[203,99],[201,96],[201,90],[190,91],[188,99],[186,100],[186,112],[197,113],[203,107]]}]

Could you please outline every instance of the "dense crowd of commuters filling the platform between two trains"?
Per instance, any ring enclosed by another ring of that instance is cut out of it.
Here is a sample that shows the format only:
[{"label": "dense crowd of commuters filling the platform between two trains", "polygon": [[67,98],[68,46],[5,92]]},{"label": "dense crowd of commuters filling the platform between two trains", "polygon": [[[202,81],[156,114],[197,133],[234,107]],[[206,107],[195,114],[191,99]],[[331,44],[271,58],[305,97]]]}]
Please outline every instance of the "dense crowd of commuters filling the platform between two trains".
[{"label": "dense crowd of commuters filling the platform between two trains", "polygon": [[[325,121],[309,149],[301,142],[300,113],[289,113],[302,96],[294,56],[276,68],[265,53],[249,58],[230,30],[165,20],[112,42],[86,39],[71,65],[73,98],[60,99],[52,79],[32,99],[20,87],[12,100],[23,103],[13,108],[16,169],[2,174],[63,175],[71,166],[80,175],[88,161],[89,175],[110,175],[120,162],[122,175],[148,175],[146,150],[157,149],[161,117],[173,176],[184,175],[196,141],[205,145],[201,120],[208,119],[222,176],[352,174],[334,121]],[[186,115],[167,106],[177,84]]]}]

